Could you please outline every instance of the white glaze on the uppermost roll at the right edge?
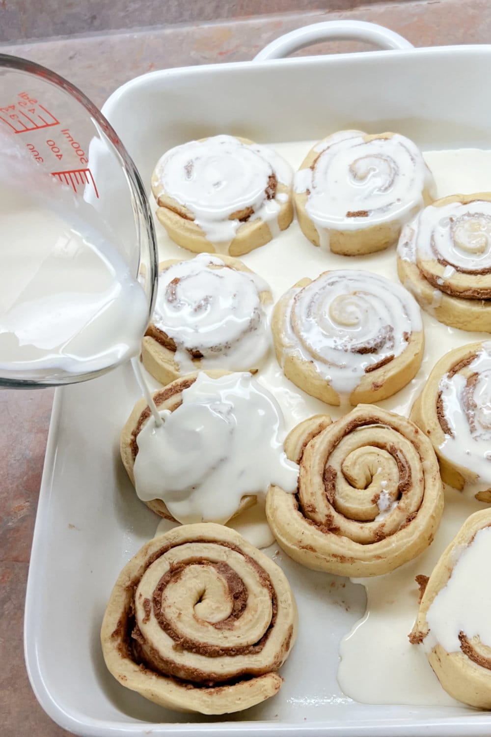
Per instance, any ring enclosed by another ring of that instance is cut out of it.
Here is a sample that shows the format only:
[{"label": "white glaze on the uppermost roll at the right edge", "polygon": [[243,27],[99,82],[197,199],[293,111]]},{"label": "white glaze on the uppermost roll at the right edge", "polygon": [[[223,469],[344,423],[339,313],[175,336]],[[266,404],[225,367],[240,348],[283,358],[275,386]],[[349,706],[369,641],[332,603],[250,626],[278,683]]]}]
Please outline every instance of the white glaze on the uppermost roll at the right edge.
[{"label": "white glaze on the uppermost roll at the right edge", "polygon": [[398,256],[415,264],[445,262],[439,287],[459,271],[478,276],[491,268],[491,202],[425,207],[400,234]]}]

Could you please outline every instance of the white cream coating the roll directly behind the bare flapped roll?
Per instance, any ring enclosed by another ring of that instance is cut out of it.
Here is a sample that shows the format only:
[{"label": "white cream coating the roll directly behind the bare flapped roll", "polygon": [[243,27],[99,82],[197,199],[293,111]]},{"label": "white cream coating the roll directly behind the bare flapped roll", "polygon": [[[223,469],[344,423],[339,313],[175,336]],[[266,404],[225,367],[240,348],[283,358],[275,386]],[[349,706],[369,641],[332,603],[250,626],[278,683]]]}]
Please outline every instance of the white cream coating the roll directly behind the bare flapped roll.
[{"label": "white cream coating the roll directly behind the bare flapped roll", "polygon": [[[422,329],[420,308],[400,284],[366,271],[339,270],[289,291],[283,340],[286,354],[313,363],[322,379],[347,395],[367,367],[406,349],[405,333]],[[370,343],[375,352],[356,352]]]}]

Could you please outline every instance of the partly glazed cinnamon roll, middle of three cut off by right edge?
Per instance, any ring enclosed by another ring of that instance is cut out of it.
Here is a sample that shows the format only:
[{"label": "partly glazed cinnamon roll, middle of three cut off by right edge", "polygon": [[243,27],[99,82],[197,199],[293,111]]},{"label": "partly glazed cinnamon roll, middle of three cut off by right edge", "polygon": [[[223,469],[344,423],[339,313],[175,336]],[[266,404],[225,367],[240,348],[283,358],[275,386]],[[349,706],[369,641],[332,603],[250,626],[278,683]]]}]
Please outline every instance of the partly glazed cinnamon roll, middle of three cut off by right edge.
[{"label": "partly glazed cinnamon roll, middle of three cut off by right edge", "polygon": [[411,419],[433,443],[442,480],[491,503],[491,342],[440,358]]}]

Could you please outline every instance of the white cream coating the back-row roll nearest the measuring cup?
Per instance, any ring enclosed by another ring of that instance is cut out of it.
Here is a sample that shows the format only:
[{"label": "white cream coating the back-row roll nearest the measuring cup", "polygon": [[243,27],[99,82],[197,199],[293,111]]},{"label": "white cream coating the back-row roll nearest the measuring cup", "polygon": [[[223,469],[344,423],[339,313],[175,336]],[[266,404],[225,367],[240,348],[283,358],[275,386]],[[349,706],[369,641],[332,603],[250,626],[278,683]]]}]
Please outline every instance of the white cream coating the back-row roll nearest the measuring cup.
[{"label": "white cream coating the back-row roll nearest the measuring cup", "polygon": [[278,213],[286,200],[268,199],[266,189],[272,175],[290,186],[292,169],[267,146],[234,136],[190,141],[167,151],[155,172],[163,191],[186,206],[217,251],[227,252],[241,226],[230,216],[247,208],[254,211],[251,220],[260,217],[272,235],[279,232]]}]

